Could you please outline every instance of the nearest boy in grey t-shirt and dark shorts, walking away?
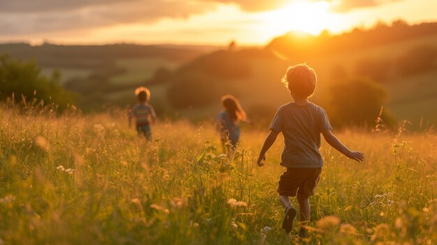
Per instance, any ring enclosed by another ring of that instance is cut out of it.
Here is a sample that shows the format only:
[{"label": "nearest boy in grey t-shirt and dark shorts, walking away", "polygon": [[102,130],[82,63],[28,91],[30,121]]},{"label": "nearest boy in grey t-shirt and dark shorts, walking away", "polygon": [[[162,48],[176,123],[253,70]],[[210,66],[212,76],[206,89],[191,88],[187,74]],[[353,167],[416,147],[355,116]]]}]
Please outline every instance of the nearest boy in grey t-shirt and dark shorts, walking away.
[{"label": "nearest boy in grey t-shirt and dark shorts, walking away", "polygon": [[[282,228],[286,232],[292,230],[292,221],[296,216],[296,209],[290,202],[290,196],[299,202],[301,224],[309,222],[309,196],[314,194],[322,172],[323,158],[320,154],[320,133],[326,142],[342,154],[355,161],[363,161],[364,154],[360,151],[350,151],[334,134],[329,124],[327,114],[322,107],[308,101],[316,89],[316,72],[299,64],[290,66],[282,82],[288,87],[294,102],[279,107],[270,125],[260,156],[258,166],[262,167],[265,153],[282,132],[285,147],[281,156],[281,165],[287,168],[279,177],[279,201],[286,209]],[[306,230],[300,228],[300,237],[306,237]]]}]

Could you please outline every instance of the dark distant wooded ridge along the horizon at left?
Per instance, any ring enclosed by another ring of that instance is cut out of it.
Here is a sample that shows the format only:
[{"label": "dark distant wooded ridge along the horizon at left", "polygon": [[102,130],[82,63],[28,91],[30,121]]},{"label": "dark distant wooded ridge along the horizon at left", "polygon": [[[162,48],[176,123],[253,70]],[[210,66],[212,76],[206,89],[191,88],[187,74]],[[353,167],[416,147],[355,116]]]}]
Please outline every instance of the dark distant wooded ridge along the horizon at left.
[{"label": "dark distant wooded ridge along the horizon at left", "polygon": [[0,44],[0,54],[28,60],[35,59],[44,67],[105,68],[117,59],[159,57],[176,61],[188,61],[203,54],[202,50],[179,46],[161,45],[43,45],[27,43]]}]

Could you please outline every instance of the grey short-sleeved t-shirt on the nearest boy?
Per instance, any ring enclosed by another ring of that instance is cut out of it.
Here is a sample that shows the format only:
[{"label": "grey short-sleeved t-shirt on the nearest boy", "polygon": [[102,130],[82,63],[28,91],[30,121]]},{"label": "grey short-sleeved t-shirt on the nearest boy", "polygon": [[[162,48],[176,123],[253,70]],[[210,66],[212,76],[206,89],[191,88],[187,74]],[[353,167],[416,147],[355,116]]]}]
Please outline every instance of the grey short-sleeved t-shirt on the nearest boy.
[{"label": "grey short-sleeved t-shirt on the nearest boy", "polygon": [[313,103],[287,103],[279,107],[269,127],[283,133],[281,165],[287,168],[321,168],[320,133],[332,129],[322,107]]}]

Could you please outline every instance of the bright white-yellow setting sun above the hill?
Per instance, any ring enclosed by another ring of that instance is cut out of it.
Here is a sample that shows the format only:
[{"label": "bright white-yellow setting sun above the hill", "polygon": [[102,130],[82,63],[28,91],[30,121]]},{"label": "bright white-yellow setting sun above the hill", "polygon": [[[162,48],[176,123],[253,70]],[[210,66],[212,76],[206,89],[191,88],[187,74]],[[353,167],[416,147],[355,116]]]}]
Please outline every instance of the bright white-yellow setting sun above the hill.
[{"label": "bright white-yellow setting sun above the hill", "polygon": [[297,1],[278,10],[260,13],[259,17],[269,36],[288,31],[316,35],[334,24],[334,14],[329,12],[327,1]]}]

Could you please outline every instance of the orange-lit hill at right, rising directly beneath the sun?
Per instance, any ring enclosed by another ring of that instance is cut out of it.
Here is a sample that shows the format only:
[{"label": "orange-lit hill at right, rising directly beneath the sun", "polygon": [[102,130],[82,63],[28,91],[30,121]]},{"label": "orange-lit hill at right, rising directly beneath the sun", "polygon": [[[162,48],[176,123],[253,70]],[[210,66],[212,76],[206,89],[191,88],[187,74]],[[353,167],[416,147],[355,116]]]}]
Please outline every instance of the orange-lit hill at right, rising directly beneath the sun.
[{"label": "orange-lit hill at right, rising directly beneath the sun", "polygon": [[[279,82],[290,64],[306,62],[318,73],[313,101],[325,103],[328,88],[336,82],[365,77],[383,84],[385,105],[401,121],[437,122],[437,23],[410,26],[397,21],[373,29],[355,29],[331,36],[290,33],[274,38],[264,48],[220,50],[177,68],[168,79],[168,100],[179,114],[213,117],[222,94],[235,94],[253,117],[274,114],[290,100]],[[182,94],[182,95],[180,95]],[[178,96],[180,95],[180,96]],[[267,116],[266,116],[267,115]]]}]

